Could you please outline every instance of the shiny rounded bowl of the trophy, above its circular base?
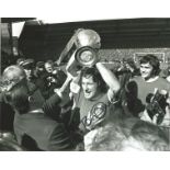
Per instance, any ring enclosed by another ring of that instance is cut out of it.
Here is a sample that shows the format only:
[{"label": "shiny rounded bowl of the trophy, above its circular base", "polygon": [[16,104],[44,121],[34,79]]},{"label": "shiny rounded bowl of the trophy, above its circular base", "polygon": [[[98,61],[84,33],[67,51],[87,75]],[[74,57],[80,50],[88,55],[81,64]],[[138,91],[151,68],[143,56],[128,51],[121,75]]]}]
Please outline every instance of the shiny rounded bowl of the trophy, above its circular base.
[{"label": "shiny rounded bowl of the trophy, above its circular base", "polygon": [[77,34],[76,46],[90,46],[92,48],[101,47],[100,35],[93,30],[82,30]]}]

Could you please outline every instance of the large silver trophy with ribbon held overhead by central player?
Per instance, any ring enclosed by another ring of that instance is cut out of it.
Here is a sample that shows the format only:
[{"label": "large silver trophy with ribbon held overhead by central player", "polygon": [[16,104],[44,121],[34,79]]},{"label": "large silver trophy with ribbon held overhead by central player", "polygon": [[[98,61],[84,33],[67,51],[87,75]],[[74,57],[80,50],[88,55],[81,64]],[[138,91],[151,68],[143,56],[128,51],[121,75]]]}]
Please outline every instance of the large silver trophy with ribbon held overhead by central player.
[{"label": "large silver trophy with ribbon held overhead by central player", "polygon": [[70,58],[76,52],[75,58],[82,67],[92,67],[98,61],[98,50],[101,47],[100,35],[89,29],[78,29],[61,52],[57,64]]}]

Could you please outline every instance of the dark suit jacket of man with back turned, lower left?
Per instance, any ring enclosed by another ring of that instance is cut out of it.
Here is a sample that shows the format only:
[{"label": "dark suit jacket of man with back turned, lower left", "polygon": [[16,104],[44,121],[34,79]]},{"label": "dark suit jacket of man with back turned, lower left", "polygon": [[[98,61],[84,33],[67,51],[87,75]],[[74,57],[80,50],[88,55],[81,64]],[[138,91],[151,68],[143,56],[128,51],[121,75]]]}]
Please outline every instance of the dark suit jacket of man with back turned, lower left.
[{"label": "dark suit jacket of man with back turned, lower left", "polygon": [[[55,100],[53,99],[52,105],[49,103],[46,103],[46,111],[53,109]],[[52,120],[43,110],[34,110],[24,114],[15,113],[14,133],[19,144],[27,150],[73,149],[71,137],[65,125]]]}]

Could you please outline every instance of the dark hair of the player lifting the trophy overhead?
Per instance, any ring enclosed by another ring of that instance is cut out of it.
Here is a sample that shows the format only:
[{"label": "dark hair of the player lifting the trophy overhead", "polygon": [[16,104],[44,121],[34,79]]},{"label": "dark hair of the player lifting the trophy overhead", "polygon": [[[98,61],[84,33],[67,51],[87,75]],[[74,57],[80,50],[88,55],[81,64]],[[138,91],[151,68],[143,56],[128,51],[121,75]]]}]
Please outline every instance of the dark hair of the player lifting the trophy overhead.
[{"label": "dark hair of the player lifting the trophy overhead", "polygon": [[102,92],[106,92],[106,84],[95,67],[83,68],[81,71],[81,80],[82,80],[82,77],[86,77],[86,78],[92,77],[93,81],[99,84],[100,90]]}]

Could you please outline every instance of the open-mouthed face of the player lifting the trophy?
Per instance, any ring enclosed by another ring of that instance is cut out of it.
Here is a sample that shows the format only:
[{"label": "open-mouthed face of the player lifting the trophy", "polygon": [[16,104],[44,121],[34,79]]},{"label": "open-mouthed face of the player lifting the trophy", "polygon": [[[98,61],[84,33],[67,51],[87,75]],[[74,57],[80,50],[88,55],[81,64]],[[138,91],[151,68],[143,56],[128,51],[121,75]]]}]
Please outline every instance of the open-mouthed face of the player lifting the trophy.
[{"label": "open-mouthed face of the player lifting the trophy", "polygon": [[98,83],[93,81],[92,77],[82,77],[82,90],[84,98],[90,100],[98,94]]}]

